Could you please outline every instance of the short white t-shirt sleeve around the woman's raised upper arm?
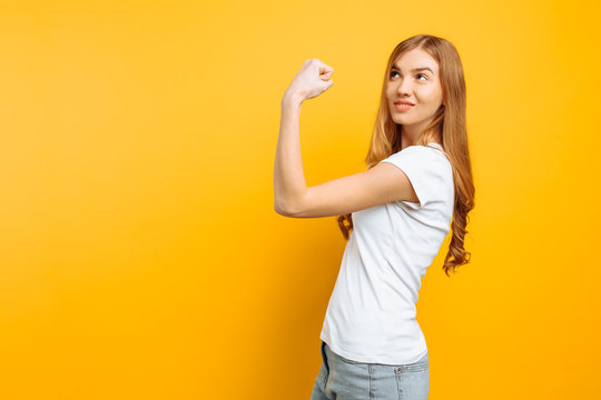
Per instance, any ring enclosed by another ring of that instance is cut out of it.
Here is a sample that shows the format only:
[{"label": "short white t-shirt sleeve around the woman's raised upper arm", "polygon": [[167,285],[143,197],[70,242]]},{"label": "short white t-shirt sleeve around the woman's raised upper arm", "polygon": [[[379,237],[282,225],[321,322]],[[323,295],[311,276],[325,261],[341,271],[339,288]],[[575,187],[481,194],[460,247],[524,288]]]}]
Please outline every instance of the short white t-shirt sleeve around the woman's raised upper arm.
[{"label": "short white t-shirt sleeve around the woman's raised upper arm", "polygon": [[[400,168],[407,176],[422,208],[424,204],[440,197],[442,184],[441,156],[424,146],[410,146],[380,162],[390,162]],[[442,156],[444,157],[444,156]]]}]

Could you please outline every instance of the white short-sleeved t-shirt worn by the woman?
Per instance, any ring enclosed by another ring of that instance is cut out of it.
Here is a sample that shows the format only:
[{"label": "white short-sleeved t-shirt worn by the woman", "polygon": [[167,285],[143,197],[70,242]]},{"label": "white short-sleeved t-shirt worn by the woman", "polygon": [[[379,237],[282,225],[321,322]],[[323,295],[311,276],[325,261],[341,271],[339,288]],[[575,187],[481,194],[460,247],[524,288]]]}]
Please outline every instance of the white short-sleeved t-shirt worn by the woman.
[{"label": "white short-sleeved t-shirt worn by the woman", "polygon": [[451,230],[455,196],[451,162],[436,149],[410,146],[381,161],[405,172],[420,203],[393,201],[353,212],[354,228],[319,334],[336,354],[403,364],[427,352],[415,303],[422,278]]}]

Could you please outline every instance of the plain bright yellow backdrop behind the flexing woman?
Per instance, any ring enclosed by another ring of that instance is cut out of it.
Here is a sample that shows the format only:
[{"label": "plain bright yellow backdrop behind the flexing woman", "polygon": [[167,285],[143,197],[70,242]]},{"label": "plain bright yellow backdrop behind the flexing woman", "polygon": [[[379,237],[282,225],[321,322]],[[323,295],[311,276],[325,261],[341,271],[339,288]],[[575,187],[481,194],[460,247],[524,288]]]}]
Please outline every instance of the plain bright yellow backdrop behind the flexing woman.
[{"label": "plain bright yellow backdrop behind the flexing woman", "polygon": [[601,372],[593,1],[3,1],[0,398],[308,399],[345,241],[273,208],[303,61],[307,183],[364,169],[385,62],[452,41],[476,186],[417,320],[430,399],[592,399]]}]

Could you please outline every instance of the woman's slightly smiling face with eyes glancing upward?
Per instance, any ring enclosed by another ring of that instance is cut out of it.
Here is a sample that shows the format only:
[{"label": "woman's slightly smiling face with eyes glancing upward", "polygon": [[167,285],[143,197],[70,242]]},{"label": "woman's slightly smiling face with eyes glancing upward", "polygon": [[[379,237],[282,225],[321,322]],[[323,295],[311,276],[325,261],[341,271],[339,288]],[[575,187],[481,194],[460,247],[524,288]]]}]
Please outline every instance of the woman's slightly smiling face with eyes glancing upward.
[{"label": "woman's slightly smiling face with eyes glancing upward", "polygon": [[[393,120],[406,131],[424,129],[441,106],[443,93],[439,78],[439,63],[420,49],[405,52],[393,64],[386,88],[388,109]],[[395,104],[401,100],[413,106]]]}]

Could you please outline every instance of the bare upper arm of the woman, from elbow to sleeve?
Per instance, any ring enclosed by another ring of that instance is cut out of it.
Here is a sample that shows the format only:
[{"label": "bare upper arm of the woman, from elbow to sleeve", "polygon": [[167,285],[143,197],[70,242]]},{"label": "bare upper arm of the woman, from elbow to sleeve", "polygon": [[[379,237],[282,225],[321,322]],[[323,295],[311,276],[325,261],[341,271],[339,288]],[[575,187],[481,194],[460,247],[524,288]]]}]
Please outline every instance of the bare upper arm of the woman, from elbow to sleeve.
[{"label": "bare upper arm of the woman, from elbow to sleeve", "polygon": [[392,163],[381,162],[364,172],[308,187],[288,216],[342,216],[398,200],[418,201],[403,170]]}]

